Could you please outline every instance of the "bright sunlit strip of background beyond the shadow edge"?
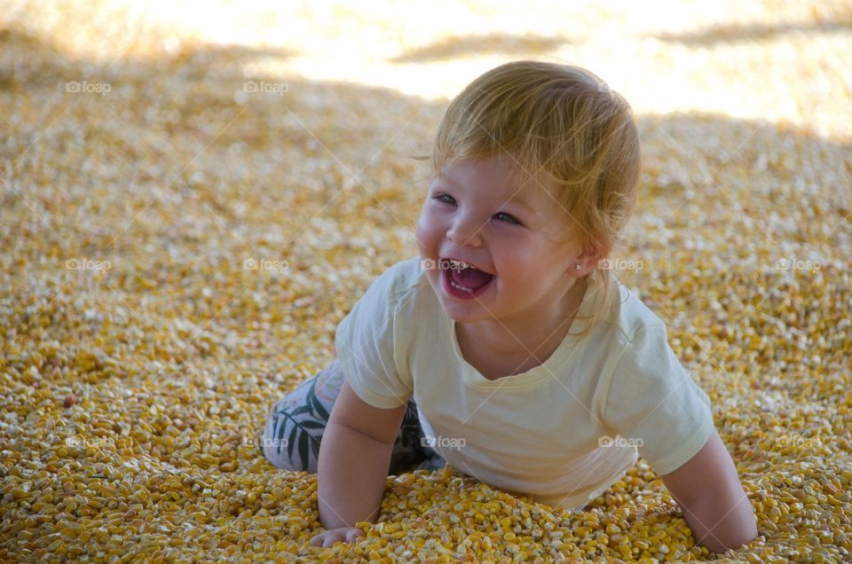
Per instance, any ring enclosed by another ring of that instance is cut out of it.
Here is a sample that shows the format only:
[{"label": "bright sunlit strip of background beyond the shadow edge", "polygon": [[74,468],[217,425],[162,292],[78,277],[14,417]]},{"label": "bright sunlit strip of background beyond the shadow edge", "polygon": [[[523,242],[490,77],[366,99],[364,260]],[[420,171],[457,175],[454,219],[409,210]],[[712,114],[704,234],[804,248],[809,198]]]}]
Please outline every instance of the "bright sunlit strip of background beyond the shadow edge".
[{"label": "bright sunlit strip of background beyond the shadow edge", "polygon": [[63,59],[110,64],[225,51],[243,74],[451,98],[507,59],[588,67],[639,113],[715,112],[843,135],[844,1],[190,2],[6,0],[4,27]]}]

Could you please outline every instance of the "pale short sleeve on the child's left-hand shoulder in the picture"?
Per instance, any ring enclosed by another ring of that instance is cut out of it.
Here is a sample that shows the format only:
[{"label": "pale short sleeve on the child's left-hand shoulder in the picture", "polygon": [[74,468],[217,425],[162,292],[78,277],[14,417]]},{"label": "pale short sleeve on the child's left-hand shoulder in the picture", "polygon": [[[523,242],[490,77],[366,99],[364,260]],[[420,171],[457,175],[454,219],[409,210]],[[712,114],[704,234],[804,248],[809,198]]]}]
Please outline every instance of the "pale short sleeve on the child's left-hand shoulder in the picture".
[{"label": "pale short sleeve on the child's left-hand shoulder in the picture", "polygon": [[337,325],[335,349],[343,378],[363,401],[391,409],[404,405],[414,386],[404,358],[403,331],[393,270],[383,272]]}]

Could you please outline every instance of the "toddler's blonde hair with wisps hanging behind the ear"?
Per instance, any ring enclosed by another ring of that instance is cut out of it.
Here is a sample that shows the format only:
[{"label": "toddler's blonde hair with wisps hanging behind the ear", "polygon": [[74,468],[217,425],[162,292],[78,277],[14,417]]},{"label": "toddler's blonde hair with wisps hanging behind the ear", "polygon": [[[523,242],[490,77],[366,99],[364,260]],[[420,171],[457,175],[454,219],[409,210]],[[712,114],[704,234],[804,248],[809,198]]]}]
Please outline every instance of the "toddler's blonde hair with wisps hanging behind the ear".
[{"label": "toddler's blonde hair with wisps hanging behind the ear", "polygon": [[[623,242],[642,166],[639,134],[627,101],[596,74],[519,60],[470,82],[438,126],[432,174],[456,161],[504,156],[533,176],[543,171],[558,186],[557,202],[582,248],[604,251],[605,258]],[[585,330],[575,333],[580,339],[614,299],[610,270],[596,268],[583,278],[596,277],[593,313]]]}]

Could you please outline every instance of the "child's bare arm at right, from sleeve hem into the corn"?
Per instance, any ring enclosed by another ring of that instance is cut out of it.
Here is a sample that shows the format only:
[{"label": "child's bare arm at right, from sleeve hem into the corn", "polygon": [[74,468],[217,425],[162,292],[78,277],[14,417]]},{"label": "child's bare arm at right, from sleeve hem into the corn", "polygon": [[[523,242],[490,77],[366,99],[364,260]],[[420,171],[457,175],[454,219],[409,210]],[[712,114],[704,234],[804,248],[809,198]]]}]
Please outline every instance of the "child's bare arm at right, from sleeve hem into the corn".
[{"label": "child's bare arm at right, from sleeve hem into the corn", "polygon": [[725,552],[757,537],[752,504],[715,429],[694,457],[660,478],[681,505],[698,544]]}]

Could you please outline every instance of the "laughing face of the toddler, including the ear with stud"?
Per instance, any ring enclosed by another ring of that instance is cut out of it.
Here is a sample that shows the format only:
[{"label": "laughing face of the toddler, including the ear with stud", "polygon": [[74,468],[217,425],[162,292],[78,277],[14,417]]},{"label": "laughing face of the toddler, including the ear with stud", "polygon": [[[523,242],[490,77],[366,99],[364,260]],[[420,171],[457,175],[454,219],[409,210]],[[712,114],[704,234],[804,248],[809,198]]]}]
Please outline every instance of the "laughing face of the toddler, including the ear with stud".
[{"label": "laughing face of the toddler, including the ear with stud", "polygon": [[445,270],[426,268],[432,289],[457,322],[496,318],[518,328],[548,323],[564,313],[561,306],[577,278],[594,267],[571,237],[556,187],[542,176],[537,184],[527,173],[513,181],[509,172],[515,167],[496,158],[463,161],[444,168],[429,186],[415,230],[422,261],[458,259],[493,275],[470,297],[449,284]]}]

